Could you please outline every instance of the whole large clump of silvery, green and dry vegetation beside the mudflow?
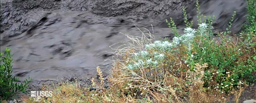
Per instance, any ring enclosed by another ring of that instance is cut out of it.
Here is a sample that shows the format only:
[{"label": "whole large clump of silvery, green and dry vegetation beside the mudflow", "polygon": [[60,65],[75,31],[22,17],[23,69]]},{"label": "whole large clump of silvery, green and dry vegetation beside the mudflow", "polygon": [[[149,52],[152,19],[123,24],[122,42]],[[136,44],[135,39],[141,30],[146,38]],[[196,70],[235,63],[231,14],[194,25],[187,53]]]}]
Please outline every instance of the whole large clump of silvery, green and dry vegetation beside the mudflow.
[{"label": "whole large clump of silvery, green and dry vegetation beside the mudflow", "polygon": [[[131,42],[115,49],[122,59],[115,61],[108,77],[109,89],[104,88],[102,73],[92,79],[93,87],[75,89],[77,83],[65,83],[54,90],[44,102],[54,103],[225,103],[231,94],[238,103],[241,91],[255,82],[256,35],[255,4],[249,1],[248,25],[236,39],[227,36],[235,13],[226,32],[220,32],[220,41],[213,40],[213,18],[198,9],[198,28],[192,28],[185,10],[187,28],[179,35],[171,19],[167,24],[175,37],[153,41],[154,36],[142,32],[142,37],[127,36]],[[252,10],[254,8],[254,10]],[[141,30],[141,29],[139,29]],[[147,38],[146,35],[150,36]],[[124,42],[122,42],[124,43]],[[67,87],[68,86],[68,87]],[[28,103],[33,103],[32,99]]]}]

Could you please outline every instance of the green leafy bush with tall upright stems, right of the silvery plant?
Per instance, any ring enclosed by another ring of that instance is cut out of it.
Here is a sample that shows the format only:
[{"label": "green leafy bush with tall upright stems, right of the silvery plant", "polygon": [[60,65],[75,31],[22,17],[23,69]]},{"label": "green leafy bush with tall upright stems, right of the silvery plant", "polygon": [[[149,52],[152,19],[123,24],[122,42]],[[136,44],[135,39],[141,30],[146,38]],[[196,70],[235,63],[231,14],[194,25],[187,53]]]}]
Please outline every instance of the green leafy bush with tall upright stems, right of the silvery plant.
[{"label": "green leafy bush with tall upright stems, right of the silvery plant", "polygon": [[[252,0],[250,3],[253,5]],[[249,5],[248,8],[252,8],[251,5]],[[200,15],[198,2],[197,7],[197,17],[199,17],[198,22],[200,23],[202,16]],[[251,22],[253,21],[252,19],[254,19],[254,17],[252,17],[254,16],[253,13],[251,13],[249,15],[250,17],[247,18]],[[253,39],[255,40],[255,34],[252,34],[251,30],[246,32],[247,35],[244,37],[247,38],[247,40],[245,39],[245,41],[243,41],[241,44],[251,41],[247,47],[237,45],[237,43],[234,43],[230,37],[226,37],[226,34],[230,33],[230,28],[235,14],[236,12],[234,12],[232,15],[230,23],[228,24],[227,32],[222,33],[223,36],[219,35],[220,38],[222,38],[221,42],[217,43],[216,41],[208,39],[210,36],[210,29],[207,31],[201,31],[201,29],[199,29],[193,42],[194,46],[192,48],[192,52],[194,53],[188,54],[194,55],[192,61],[195,63],[209,64],[205,69],[205,77],[203,78],[205,81],[204,87],[211,86],[213,89],[216,89],[222,93],[228,93],[233,89],[243,87],[244,82],[250,84],[255,80],[253,73],[256,71],[256,60],[252,59],[252,56],[256,55],[255,49],[252,49],[256,44],[256,42],[252,42]],[[212,22],[213,21],[210,20],[207,26],[211,27]],[[255,22],[251,24],[254,23]],[[255,26],[256,25],[250,25],[248,28],[254,28]],[[250,40],[248,38],[250,38]]]}]

